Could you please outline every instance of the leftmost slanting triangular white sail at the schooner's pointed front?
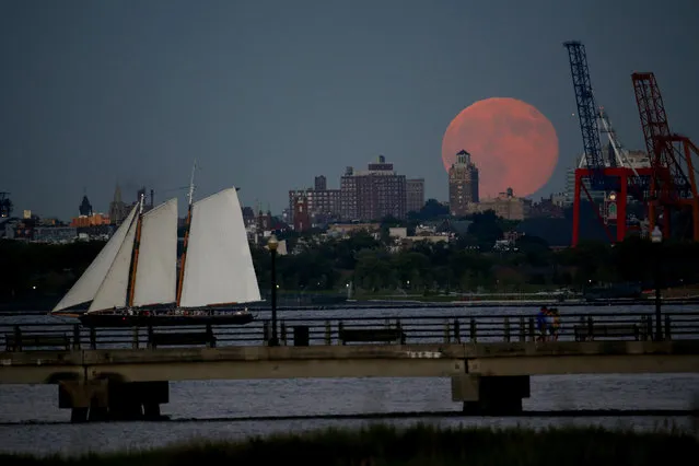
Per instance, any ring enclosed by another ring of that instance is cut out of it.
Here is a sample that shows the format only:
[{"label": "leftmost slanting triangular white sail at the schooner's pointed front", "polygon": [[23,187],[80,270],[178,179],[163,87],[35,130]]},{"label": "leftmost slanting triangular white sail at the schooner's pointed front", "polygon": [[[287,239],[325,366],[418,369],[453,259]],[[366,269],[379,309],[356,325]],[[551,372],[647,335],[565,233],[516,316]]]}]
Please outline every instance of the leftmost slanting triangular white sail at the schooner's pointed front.
[{"label": "leftmost slanting triangular white sail at the schooner's pointed front", "polygon": [[124,223],[119,225],[107,244],[105,244],[102,251],[100,251],[97,257],[94,258],[92,264],[90,264],[75,284],[73,284],[68,293],[66,293],[66,295],[58,302],[51,313],[72,307],[78,304],[88,303],[95,298],[100,284],[107,275],[107,270],[109,270],[109,266],[121,247],[121,243],[124,243],[124,238],[126,237],[126,233],[137,210],[138,206],[131,210],[131,213],[129,213]]}]

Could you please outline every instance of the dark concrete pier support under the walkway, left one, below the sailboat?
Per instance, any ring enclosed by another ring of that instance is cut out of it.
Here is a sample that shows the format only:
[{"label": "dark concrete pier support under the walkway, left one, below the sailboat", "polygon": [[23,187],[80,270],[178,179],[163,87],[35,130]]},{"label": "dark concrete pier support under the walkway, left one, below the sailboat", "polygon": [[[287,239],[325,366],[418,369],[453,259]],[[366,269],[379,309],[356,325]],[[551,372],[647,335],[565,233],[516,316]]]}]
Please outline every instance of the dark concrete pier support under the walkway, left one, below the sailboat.
[{"label": "dark concrete pier support under the walkway, left one, below the sailboat", "polygon": [[71,409],[71,422],[108,420],[156,420],[160,405],[170,401],[167,381],[116,382],[61,381],[58,406]]}]

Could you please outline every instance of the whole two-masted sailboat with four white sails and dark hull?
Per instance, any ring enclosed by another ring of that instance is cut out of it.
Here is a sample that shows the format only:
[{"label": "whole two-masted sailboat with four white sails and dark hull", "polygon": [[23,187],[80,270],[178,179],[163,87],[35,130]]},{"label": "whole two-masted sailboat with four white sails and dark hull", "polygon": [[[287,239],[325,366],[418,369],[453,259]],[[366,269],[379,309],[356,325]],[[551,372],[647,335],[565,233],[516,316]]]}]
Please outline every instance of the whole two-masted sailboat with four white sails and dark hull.
[{"label": "whole two-masted sailboat with four white sails and dark hull", "polygon": [[247,324],[260,301],[236,188],[193,202],[177,273],[177,199],[143,197],[51,314],[90,302],[88,327]]}]

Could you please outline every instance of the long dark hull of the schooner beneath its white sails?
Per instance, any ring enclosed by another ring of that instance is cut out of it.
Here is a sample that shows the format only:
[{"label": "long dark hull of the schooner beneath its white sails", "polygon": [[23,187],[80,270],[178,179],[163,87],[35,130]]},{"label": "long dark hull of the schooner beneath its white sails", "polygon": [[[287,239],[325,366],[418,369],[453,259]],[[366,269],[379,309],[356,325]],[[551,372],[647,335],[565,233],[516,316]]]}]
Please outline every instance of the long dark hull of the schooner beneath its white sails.
[{"label": "long dark hull of the schooner beneath its white sails", "polygon": [[251,313],[214,315],[121,315],[83,314],[78,317],[84,327],[164,327],[186,325],[245,325],[255,319]]}]

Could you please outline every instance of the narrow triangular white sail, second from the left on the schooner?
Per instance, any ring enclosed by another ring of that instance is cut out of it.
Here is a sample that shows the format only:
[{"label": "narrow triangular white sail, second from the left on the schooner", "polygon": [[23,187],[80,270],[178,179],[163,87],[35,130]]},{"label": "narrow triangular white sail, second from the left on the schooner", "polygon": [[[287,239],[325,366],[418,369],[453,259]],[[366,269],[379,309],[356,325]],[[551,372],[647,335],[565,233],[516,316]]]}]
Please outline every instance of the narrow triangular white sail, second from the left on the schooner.
[{"label": "narrow triangular white sail, second from the left on the schooner", "polygon": [[95,299],[92,300],[88,308],[88,313],[126,306],[129,269],[131,268],[131,254],[133,252],[137,226],[138,220],[133,220],[129,225],[121,247],[119,247],[119,252],[112,263],[112,267],[109,267],[106,277],[100,284]]}]

